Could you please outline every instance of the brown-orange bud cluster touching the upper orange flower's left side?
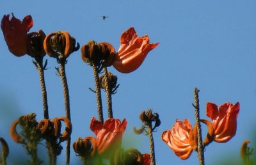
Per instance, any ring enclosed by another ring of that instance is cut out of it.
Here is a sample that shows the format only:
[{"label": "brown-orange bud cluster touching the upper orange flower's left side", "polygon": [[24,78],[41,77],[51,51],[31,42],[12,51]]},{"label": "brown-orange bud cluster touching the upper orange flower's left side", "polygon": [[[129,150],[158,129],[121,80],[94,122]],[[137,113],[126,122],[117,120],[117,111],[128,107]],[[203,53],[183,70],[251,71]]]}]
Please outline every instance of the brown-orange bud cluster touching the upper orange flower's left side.
[{"label": "brown-orange bud cluster touching the upper orange flower's left side", "polygon": [[89,41],[81,47],[81,56],[88,65],[110,67],[115,56],[115,48],[108,42]]}]

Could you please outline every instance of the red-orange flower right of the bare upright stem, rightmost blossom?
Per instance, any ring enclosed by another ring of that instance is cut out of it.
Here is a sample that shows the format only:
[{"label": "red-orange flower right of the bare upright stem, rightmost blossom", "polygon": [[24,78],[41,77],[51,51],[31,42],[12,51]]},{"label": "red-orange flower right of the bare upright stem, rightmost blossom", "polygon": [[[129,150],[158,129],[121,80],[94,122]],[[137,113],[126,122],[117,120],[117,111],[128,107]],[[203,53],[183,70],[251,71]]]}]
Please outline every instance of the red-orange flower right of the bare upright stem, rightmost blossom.
[{"label": "red-orange flower right of the bare upright stem, rightmost blossom", "polygon": [[212,141],[225,143],[236,135],[237,122],[236,118],[239,113],[239,102],[232,104],[227,102],[222,104],[219,109],[214,103],[208,102],[206,105],[206,115],[211,118],[201,120],[208,127],[208,134],[204,140],[204,145],[209,145]]}]

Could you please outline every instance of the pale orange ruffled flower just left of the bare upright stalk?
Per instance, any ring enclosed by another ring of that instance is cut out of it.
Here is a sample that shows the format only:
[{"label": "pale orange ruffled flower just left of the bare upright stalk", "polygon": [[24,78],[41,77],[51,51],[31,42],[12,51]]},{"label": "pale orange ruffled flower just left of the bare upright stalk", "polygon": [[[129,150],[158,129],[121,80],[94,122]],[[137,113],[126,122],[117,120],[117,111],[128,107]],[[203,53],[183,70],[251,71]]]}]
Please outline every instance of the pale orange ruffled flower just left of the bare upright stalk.
[{"label": "pale orange ruffled flower just left of the bare upright stalk", "polygon": [[164,131],[161,138],[180,159],[188,159],[193,150],[197,150],[196,128],[191,128],[188,119],[176,120],[172,129]]}]

